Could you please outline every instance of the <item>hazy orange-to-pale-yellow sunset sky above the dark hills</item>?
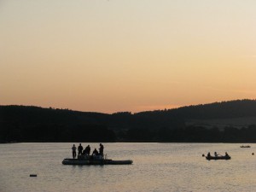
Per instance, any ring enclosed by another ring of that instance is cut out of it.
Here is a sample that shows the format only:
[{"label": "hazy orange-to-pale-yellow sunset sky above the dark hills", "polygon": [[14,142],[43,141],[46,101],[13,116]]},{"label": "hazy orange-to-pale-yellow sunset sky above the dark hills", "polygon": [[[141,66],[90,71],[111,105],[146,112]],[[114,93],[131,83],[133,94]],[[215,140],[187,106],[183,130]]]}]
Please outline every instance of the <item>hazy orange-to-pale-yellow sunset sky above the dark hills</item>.
[{"label": "hazy orange-to-pale-yellow sunset sky above the dark hills", "polygon": [[0,0],[0,105],[137,113],[256,98],[254,0]]}]

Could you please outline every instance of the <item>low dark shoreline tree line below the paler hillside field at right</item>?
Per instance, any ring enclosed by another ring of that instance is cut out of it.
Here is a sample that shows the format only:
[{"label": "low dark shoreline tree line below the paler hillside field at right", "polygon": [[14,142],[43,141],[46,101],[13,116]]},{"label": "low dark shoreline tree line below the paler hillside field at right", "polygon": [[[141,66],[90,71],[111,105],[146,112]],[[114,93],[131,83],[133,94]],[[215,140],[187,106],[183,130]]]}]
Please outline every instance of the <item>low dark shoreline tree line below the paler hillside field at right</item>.
[{"label": "low dark shoreline tree line below the paler hillside field at right", "polygon": [[186,126],[181,129],[128,130],[120,138],[130,142],[170,142],[170,143],[256,143],[256,125],[238,129],[218,127],[208,129],[203,126]]}]

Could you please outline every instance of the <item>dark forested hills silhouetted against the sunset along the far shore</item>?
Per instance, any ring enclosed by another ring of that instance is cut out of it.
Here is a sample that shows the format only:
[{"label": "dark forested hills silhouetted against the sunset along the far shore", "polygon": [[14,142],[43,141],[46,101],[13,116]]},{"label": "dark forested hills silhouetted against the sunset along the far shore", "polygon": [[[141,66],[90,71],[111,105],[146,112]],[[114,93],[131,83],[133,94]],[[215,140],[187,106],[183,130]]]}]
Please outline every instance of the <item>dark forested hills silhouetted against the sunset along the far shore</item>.
[{"label": "dark forested hills silhouetted against the sunset along the far shore", "polygon": [[[227,140],[227,137],[222,136],[222,133],[218,132],[217,134],[215,132],[215,135],[211,133],[212,135],[210,134],[210,136],[206,137],[205,135],[198,134],[198,132],[209,135],[208,131],[202,133],[202,127],[189,127],[188,129],[185,121],[188,119],[232,119],[245,117],[256,117],[256,100],[215,102],[134,114],[129,112],[107,114],[55,108],[0,106],[0,143],[14,141],[206,142],[201,140],[201,137],[207,138],[207,141],[224,142]],[[186,130],[189,130],[189,132]],[[191,137],[191,134],[194,134],[196,137]],[[244,133],[243,139],[246,138],[246,134]],[[241,137],[241,133],[236,135],[236,137],[233,137],[235,142],[243,141],[239,140],[241,138],[237,138]],[[252,135],[252,132],[250,132],[250,135]],[[215,136],[214,139],[213,136]],[[219,140],[220,137],[223,140]],[[234,141],[232,140],[231,142]]]}]

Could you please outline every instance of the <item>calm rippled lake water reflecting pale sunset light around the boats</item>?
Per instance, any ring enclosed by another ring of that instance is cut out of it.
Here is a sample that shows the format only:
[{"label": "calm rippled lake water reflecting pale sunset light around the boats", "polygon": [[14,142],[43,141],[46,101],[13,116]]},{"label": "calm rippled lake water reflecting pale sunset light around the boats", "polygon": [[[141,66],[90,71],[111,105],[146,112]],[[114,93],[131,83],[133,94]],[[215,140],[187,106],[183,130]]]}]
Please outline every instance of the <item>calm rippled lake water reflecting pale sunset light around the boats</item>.
[{"label": "calm rippled lake water reflecting pale sunset light around the boats", "polygon": [[[256,144],[103,143],[109,159],[133,165],[63,166],[72,144],[1,144],[0,191],[256,191]],[[232,159],[208,161],[208,151]]]}]

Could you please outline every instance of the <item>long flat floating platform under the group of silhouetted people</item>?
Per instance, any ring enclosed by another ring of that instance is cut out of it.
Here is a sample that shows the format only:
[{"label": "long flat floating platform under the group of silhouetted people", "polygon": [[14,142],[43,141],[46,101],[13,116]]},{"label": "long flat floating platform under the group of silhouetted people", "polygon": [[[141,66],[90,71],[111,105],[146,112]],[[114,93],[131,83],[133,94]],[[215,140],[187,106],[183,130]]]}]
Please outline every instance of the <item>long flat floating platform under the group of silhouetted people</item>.
[{"label": "long flat floating platform under the group of silhouetted people", "polygon": [[102,158],[102,156],[80,156],[78,159],[64,159],[62,160],[63,165],[131,165],[132,160],[108,160]]}]

